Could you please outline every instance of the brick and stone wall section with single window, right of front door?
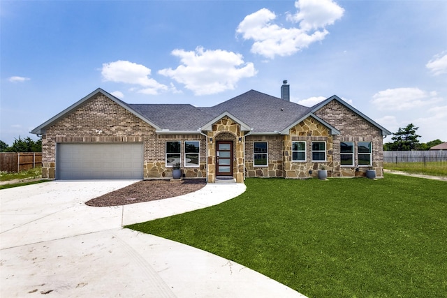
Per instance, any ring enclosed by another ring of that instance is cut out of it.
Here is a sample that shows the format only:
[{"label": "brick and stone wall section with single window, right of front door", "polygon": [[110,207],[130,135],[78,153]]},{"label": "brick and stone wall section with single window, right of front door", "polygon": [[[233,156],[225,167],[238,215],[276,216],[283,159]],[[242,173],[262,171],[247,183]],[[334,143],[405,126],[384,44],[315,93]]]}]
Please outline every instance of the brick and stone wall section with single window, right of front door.
[{"label": "brick and stone wall section with single window, right of front door", "polygon": [[[245,177],[284,177],[281,135],[249,135],[245,139]],[[254,165],[254,142],[268,143],[268,166]]]}]

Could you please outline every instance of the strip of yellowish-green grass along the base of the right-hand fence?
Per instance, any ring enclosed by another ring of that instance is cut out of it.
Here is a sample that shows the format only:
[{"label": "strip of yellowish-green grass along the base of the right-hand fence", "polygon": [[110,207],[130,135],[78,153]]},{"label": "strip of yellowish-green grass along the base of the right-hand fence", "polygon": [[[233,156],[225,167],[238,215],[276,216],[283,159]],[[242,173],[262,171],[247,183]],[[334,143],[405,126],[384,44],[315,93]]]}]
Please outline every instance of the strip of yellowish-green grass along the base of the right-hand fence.
[{"label": "strip of yellowish-green grass along the base of the right-hand fence", "polygon": [[432,176],[447,176],[447,163],[427,162],[424,163],[384,163],[387,170],[409,172],[411,174],[425,174]]}]

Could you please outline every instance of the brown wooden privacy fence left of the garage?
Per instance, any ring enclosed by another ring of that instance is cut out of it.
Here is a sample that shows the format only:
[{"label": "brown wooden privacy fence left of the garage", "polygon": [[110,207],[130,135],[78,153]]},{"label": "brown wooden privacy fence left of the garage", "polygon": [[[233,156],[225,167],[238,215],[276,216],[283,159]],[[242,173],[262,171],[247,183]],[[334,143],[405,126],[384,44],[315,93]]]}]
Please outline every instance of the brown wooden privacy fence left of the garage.
[{"label": "brown wooden privacy fence left of the garage", "polygon": [[0,171],[20,172],[42,166],[42,154],[38,152],[1,152]]}]

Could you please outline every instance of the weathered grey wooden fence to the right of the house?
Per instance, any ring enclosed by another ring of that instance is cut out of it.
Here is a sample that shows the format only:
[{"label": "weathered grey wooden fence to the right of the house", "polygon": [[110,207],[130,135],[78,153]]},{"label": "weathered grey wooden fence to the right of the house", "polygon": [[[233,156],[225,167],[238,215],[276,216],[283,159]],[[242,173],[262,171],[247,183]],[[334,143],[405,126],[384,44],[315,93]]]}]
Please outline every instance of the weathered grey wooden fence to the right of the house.
[{"label": "weathered grey wooden fence to the right of the house", "polygon": [[423,163],[425,167],[446,166],[447,151],[383,151],[384,163]]}]

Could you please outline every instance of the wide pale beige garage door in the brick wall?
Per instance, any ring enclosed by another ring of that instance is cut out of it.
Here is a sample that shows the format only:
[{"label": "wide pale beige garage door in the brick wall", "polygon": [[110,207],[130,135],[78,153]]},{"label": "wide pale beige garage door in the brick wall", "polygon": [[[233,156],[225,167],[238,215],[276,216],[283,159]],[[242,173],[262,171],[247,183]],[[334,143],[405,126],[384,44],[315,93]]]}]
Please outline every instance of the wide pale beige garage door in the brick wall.
[{"label": "wide pale beige garage door in the brick wall", "polygon": [[57,144],[57,179],[142,179],[143,146]]}]

